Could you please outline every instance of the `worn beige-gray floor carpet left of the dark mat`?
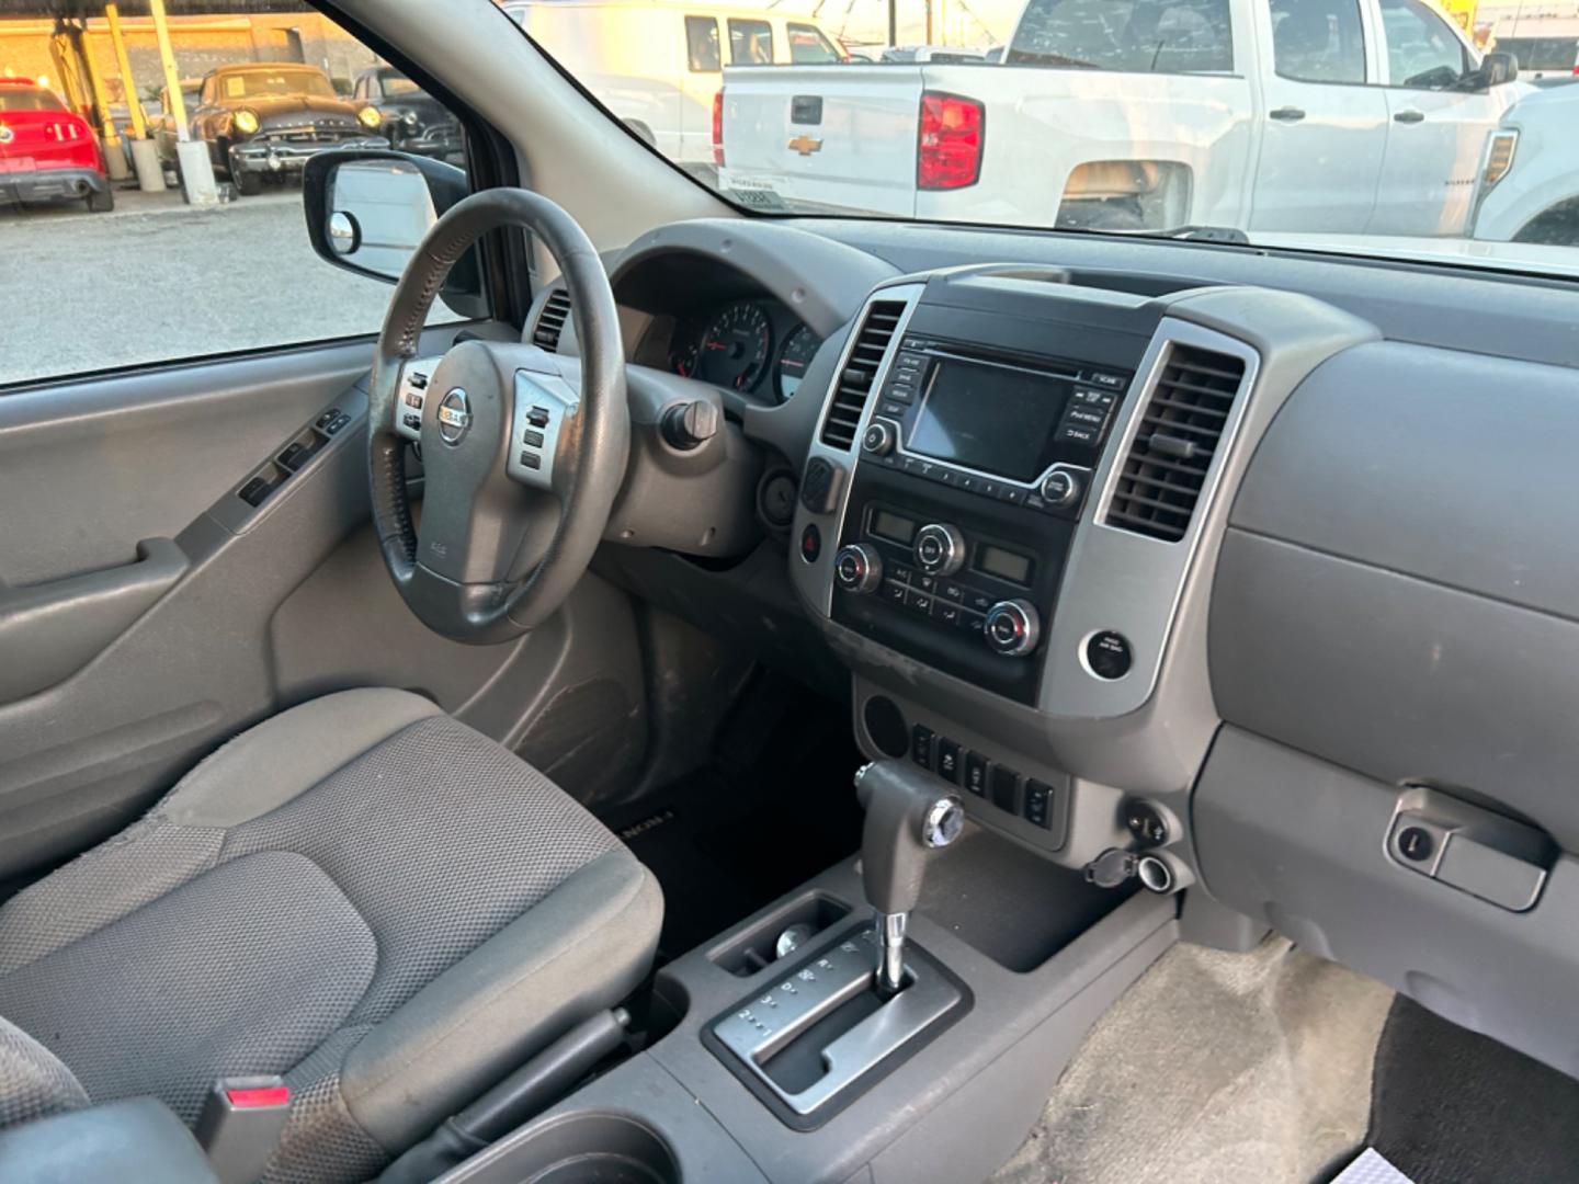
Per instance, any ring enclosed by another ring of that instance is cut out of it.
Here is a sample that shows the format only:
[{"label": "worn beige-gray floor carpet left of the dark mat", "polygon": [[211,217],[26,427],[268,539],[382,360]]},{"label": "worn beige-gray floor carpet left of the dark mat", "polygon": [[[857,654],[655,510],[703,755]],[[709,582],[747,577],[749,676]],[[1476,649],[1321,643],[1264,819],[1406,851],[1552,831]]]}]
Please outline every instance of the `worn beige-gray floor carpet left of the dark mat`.
[{"label": "worn beige-gray floor carpet left of the dark mat", "polygon": [[992,1184],[1309,1184],[1364,1145],[1393,991],[1268,938],[1180,944],[1091,1031]]}]

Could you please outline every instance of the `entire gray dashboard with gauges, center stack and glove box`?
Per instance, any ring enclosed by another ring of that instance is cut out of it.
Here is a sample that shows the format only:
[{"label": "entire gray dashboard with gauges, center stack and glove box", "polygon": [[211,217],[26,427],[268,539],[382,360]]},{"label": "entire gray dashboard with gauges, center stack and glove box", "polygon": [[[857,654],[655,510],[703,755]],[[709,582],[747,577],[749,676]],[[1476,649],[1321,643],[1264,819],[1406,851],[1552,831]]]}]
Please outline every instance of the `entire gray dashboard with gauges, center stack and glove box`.
[{"label": "entire gray dashboard with gauges, center stack and glove box", "polygon": [[780,483],[753,551],[625,553],[632,590],[834,663],[977,826],[1151,852],[1187,935],[1579,1073],[1579,292],[821,219],[611,270],[635,366],[725,392]]}]

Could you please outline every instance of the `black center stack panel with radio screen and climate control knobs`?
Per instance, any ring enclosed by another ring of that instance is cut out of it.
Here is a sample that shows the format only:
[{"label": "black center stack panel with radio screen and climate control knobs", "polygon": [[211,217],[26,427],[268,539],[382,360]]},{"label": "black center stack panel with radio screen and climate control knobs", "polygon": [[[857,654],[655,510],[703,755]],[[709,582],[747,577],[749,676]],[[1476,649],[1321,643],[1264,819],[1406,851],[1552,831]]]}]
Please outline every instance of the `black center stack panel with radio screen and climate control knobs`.
[{"label": "black center stack panel with radio screen and climate control knobs", "polygon": [[861,439],[834,620],[1020,703],[1131,371],[906,333]]}]

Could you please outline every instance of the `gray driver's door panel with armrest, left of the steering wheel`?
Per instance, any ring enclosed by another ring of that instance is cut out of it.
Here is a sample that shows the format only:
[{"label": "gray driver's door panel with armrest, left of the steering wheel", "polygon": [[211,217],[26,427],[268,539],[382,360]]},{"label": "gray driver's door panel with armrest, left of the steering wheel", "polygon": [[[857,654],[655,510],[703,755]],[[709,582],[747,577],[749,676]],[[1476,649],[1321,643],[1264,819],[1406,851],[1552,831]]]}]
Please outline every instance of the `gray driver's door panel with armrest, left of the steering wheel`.
[{"label": "gray driver's door panel with armrest, left of the steering wheel", "polygon": [[[429,332],[423,352],[453,335]],[[237,731],[351,685],[428,693],[527,747],[567,688],[602,682],[605,699],[630,699],[628,736],[616,739],[639,759],[639,646],[622,594],[584,583],[526,641],[464,647],[429,635],[390,590],[366,529],[357,384],[369,352],[294,350],[0,396],[0,497],[35,508],[0,518],[0,613],[27,586],[47,595],[46,581],[131,562],[145,538],[171,540],[153,562],[177,568],[112,627],[93,597],[88,608],[60,600],[63,633],[92,627],[93,652],[62,682],[0,703],[0,881],[122,829]],[[238,499],[332,404],[352,422],[259,507]],[[21,639],[8,657],[47,649],[21,624],[8,635],[0,619],[0,638]]]}]

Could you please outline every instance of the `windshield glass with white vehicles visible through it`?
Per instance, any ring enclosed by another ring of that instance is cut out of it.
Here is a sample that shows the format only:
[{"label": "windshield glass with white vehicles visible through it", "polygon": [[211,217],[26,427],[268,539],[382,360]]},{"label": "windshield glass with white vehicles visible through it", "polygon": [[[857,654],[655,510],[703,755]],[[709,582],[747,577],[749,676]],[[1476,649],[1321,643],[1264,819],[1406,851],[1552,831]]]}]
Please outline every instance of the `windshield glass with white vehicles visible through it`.
[{"label": "windshield glass with white vehicles visible through it", "polygon": [[1579,81],[1533,74],[1573,69],[1579,16],[1557,9],[538,0],[507,11],[613,118],[763,215],[1170,235],[1579,278]]}]

